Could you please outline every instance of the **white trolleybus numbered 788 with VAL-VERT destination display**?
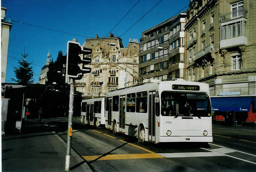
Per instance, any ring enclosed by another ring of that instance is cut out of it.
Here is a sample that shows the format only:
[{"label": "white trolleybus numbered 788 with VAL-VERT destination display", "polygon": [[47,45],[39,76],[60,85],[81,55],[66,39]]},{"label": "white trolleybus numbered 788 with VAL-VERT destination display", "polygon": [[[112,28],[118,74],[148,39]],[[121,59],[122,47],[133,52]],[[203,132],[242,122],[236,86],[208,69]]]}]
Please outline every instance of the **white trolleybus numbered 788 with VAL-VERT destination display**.
[{"label": "white trolleybus numbered 788 with VAL-VERT destination display", "polygon": [[146,80],[108,92],[105,126],[139,142],[212,142],[209,85]]}]

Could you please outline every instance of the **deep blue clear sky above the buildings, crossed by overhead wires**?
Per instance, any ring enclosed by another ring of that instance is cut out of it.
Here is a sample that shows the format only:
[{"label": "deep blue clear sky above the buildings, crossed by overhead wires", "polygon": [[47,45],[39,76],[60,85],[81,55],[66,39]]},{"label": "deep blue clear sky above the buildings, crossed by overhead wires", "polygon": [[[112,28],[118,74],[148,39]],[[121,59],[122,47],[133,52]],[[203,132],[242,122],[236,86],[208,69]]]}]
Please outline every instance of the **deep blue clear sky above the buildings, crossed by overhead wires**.
[{"label": "deep blue clear sky above the buildings, crossed by overhead wires", "polygon": [[[58,52],[66,54],[67,41],[76,38],[82,45],[86,38],[105,37],[138,0],[119,1],[71,1],[71,0],[2,0],[6,17],[11,18],[6,82],[14,82],[13,69],[18,67],[21,53],[29,53],[26,60],[33,62],[34,82],[39,82],[40,71],[45,65],[50,49],[53,61]],[[140,0],[124,19],[114,28],[114,36],[121,36],[135,22],[144,16],[160,0]],[[139,39],[141,33],[161,23],[188,5],[190,0],[162,0],[146,16],[120,38],[127,47],[129,38]],[[188,9],[186,7],[183,11]],[[57,31],[52,31],[44,28]],[[72,33],[75,35],[71,35]],[[109,36],[109,34],[107,35]]]}]

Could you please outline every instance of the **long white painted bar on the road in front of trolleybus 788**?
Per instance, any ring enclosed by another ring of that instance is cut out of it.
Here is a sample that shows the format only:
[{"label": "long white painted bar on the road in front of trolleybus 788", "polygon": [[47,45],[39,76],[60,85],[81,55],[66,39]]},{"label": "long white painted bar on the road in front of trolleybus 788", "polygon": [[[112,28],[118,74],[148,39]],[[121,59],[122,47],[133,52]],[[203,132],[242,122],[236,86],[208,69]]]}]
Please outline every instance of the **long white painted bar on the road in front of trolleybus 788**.
[{"label": "long white painted bar on the road in front of trolleybus 788", "polygon": [[183,153],[162,153],[158,154],[165,158],[181,158],[181,157],[203,157],[203,156],[225,156],[219,152],[183,152]]}]

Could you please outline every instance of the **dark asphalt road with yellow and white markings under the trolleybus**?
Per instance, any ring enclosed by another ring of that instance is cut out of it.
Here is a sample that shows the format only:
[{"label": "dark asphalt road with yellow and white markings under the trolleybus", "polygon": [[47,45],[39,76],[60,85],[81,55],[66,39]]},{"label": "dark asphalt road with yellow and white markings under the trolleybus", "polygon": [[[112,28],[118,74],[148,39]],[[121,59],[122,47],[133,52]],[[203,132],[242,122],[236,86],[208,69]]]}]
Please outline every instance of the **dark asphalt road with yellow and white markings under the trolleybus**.
[{"label": "dark asphalt road with yellow and white markings under the trolleybus", "polygon": [[[68,118],[44,119],[66,141]],[[145,145],[73,118],[72,148],[92,171],[255,171],[256,131],[213,124],[213,143]]]}]

